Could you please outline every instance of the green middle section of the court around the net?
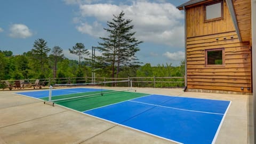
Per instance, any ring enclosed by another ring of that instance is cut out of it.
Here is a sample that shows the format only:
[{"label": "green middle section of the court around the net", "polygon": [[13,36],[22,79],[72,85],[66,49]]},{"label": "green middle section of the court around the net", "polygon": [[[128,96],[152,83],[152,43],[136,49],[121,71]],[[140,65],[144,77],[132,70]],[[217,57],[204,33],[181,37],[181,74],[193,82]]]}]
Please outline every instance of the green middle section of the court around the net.
[{"label": "green middle section of the court around the net", "polygon": [[[76,111],[84,112],[89,109],[102,107],[110,104],[115,104],[121,101],[149,95],[149,94],[143,94],[139,92],[128,92],[128,91],[107,90],[104,92],[106,93],[110,91],[111,93],[103,94],[103,95],[99,94],[99,91],[98,92],[94,91],[94,92],[83,92],[78,94],[54,96],[52,97],[52,100],[69,98],[69,97],[78,97],[78,96],[84,96],[84,95],[93,95],[93,96],[85,96],[81,98],[54,101],[55,104],[62,105],[71,109],[75,109]],[[41,99],[48,100],[48,97],[44,97]]]}]

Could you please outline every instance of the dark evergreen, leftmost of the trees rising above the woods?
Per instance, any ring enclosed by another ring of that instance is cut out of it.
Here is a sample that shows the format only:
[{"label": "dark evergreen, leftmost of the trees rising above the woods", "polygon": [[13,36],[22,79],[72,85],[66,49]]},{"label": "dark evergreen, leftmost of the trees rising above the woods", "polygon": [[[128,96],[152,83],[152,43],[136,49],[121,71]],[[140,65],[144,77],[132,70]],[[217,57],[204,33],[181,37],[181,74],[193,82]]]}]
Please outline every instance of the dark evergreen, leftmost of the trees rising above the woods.
[{"label": "dark evergreen, leftmost of the trees rising above the woods", "polygon": [[50,48],[46,46],[47,42],[39,38],[35,40],[33,49],[31,49],[31,53],[33,54],[34,60],[38,61],[38,64],[41,65],[41,74],[45,74],[44,65],[48,62],[47,54],[50,52]]}]

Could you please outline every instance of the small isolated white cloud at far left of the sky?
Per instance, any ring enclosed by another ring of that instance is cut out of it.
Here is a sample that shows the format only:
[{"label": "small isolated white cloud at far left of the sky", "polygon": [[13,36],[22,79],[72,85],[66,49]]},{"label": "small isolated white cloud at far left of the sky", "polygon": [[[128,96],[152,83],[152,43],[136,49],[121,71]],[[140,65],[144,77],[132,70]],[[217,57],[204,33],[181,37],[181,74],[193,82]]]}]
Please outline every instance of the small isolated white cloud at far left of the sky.
[{"label": "small isolated white cloud at far left of the sky", "polygon": [[33,35],[25,24],[12,24],[10,31],[9,36],[13,38],[27,38]]}]

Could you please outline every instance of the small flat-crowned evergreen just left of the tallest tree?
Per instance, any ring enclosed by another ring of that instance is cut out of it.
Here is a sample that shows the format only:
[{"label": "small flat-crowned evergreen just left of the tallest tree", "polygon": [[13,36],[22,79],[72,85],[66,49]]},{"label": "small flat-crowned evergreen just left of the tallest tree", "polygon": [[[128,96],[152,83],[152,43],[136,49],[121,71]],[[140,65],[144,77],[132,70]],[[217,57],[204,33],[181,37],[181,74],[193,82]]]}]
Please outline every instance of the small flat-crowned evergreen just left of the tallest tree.
[{"label": "small flat-crowned evergreen just left of the tallest tree", "polygon": [[85,49],[83,43],[76,43],[76,45],[73,46],[72,49],[69,48],[69,52],[79,57],[79,66],[81,66],[81,59],[83,58],[83,55],[90,55],[90,52]]}]

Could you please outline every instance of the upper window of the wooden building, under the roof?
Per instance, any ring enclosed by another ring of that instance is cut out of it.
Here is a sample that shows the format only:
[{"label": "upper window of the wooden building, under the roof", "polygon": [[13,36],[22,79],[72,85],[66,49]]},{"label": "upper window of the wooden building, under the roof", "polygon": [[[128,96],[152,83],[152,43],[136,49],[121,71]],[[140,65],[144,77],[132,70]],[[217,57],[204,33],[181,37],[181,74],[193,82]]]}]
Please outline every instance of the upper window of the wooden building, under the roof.
[{"label": "upper window of the wooden building, under the roof", "polygon": [[223,2],[217,1],[204,5],[204,21],[213,21],[223,18]]}]

